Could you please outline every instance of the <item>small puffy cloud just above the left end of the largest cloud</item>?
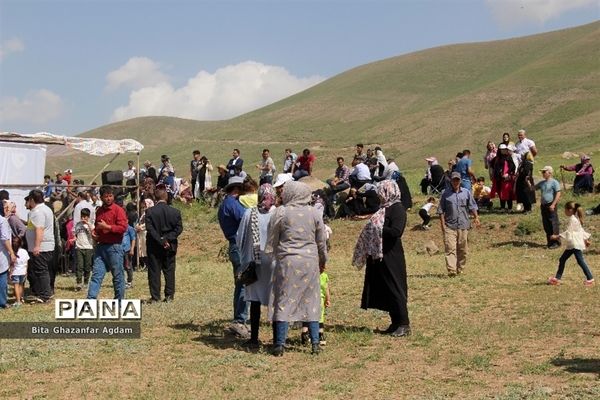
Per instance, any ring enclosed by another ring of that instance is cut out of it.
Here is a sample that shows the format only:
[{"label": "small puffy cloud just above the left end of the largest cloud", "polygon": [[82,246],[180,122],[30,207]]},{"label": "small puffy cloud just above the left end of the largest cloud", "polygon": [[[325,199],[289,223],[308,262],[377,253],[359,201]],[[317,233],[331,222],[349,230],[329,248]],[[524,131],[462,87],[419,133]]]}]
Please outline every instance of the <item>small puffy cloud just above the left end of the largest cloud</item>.
[{"label": "small puffy cloud just above the left end of the largest cloud", "polygon": [[140,89],[168,81],[169,77],[160,70],[158,63],[146,57],[132,57],[119,69],[106,75],[106,89]]}]

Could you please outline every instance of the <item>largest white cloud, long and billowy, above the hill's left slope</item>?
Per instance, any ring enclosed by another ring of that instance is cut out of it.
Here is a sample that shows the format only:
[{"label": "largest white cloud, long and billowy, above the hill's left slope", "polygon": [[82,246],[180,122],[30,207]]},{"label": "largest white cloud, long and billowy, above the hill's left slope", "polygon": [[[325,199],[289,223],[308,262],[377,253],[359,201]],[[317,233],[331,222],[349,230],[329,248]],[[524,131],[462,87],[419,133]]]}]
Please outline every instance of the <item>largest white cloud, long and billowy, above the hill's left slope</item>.
[{"label": "largest white cloud, long and billowy, above the hill's left slope", "polygon": [[141,88],[129,104],[116,109],[113,121],[150,115],[218,120],[232,118],[301,92],[324,78],[298,78],[285,68],[246,61],[200,71],[181,88],[167,82]]}]

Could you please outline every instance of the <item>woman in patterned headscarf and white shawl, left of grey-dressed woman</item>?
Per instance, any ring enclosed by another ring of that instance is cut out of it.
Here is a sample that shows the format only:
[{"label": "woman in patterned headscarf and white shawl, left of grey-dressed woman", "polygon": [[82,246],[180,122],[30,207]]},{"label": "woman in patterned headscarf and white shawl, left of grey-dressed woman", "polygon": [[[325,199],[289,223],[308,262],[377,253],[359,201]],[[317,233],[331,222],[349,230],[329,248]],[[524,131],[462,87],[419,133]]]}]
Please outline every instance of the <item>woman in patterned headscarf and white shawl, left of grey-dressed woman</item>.
[{"label": "woman in patterned headscarf and white shawl, left of grey-dressed woman", "polygon": [[275,211],[275,189],[265,183],[258,189],[258,206],[247,209],[242,217],[236,235],[240,249],[242,270],[251,262],[256,264],[257,281],[246,285],[244,299],[250,302],[250,340],[249,347],[258,347],[258,329],[260,326],[260,306],[268,306],[273,288],[273,270],[275,263],[265,253],[269,221]]}]

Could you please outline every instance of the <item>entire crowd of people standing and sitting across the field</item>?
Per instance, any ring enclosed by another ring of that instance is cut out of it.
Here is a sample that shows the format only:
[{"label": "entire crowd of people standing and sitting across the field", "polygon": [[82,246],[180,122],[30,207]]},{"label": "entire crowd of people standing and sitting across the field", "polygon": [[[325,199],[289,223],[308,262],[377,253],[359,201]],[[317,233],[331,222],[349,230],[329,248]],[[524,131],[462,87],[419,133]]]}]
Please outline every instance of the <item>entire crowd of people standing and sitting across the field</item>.
[{"label": "entire crowd of people standing and sitting across the field", "polygon": [[[449,160],[447,169],[436,157],[427,157],[420,184],[427,201],[418,211],[422,229],[430,229],[432,214],[439,217],[447,273],[454,277],[465,272],[468,236],[472,225],[480,224],[480,212],[492,210],[498,198],[499,212],[528,214],[539,191],[547,248],[566,244],[558,272],[548,283],[560,284],[567,259],[575,255],[585,285],[593,285],[583,257],[590,242],[583,229],[581,206],[566,204],[568,224],[560,232],[558,206],[564,182],[561,190],[548,165],[539,170],[542,179],[535,183],[538,149],[524,130],[517,137],[514,143],[505,133],[498,145],[487,144],[483,157],[487,173],[479,176],[468,149]],[[25,198],[30,210],[27,224],[15,215],[14,203],[3,199],[0,307],[7,305],[9,279],[14,284],[15,306],[23,301],[26,281],[33,301],[51,299],[59,253],[70,260],[76,290],[87,286],[90,299],[98,297],[107,272],[112,274],[114,298],[123,299],[133,285],[134,268],[147,267],[148,302],[161,301],[161,273],[165,278],[162,300],[172,301],[177,238],[183,226],[180,212],[170,205],[178,199],[184,204],[204,202],[218,207],[234,281],[228,330],[247,339],[247,346],[260,345],[261,308],[267,307],[274,355],[284,354],[289,324],[295,322],[302,323],[302,343],[310,342],[315,354],[321,351],[326,343],[325,309],[332,302],[326,265],[331,235],[328,224],[333,218],[368,220],[352,259],[356,267],[366,266],[361,307],[390,314],[389,327],[380,333],[409,335],[402,235],[407,211],[413,207],[410,189],[398,165],[379,146],[365,151],[359,143],[351,160],[347,166],[344,157],[337,157],[333,177],[319,190],[305,183],[306,177],[313,175],[315,155],[304,149],[297,156],[291,148],[285,149],[281,173],[265,148],[252,174],[244,170],[240,150],[233,149],[228,163],[217,166],[216,186],[212,184],[213,166],[199,150],[192,152],[189,180],[176,177],[167,155],[161,157],[158,169],[146,161],[138,172],[130,161],[123,171],[123,188],[99,187],[95,182],[85,187],[82,180],[73,178],[72,170],[56,174],[54,181],[46,176],[43,190],[32,190]],[[575,194],[594,190],[590,157],[582,155],[580,163],[561,165],[560,170],[575,172]],[[130,202],[124,204],[128,197]],[[600,211],[600,206],[597,209]],[[57,220],[53,210],[65,210],[61,213],[64,219]]]}]

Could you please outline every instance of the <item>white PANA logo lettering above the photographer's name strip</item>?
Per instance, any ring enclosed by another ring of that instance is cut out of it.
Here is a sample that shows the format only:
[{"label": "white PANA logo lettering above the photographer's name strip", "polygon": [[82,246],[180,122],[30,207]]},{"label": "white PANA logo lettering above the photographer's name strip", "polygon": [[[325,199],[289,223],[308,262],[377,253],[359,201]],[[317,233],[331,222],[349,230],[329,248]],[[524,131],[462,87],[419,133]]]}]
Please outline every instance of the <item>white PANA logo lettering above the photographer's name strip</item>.
[{"label": "white PANA logo lettering above the photographer's name strip", "polygon": [[142,302],[139,299],[56,299],[56,319],[142,319]]}]

